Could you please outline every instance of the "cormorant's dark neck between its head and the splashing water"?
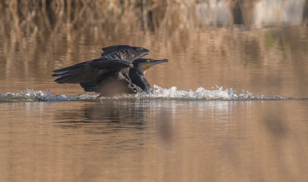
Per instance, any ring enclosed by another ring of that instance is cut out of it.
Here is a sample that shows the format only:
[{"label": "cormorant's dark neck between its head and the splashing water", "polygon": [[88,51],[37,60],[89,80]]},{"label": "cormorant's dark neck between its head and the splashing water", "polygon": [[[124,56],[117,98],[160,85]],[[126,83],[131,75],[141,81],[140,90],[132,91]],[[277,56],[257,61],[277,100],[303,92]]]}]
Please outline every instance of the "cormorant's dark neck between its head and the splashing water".
[{"label": "cormorant's dark neck between its head and the splashing water", "polygon": [[146,79],[144,72],[141,72],[139,69],[130,68],[129,78],[131,79],[133,84],[140,87],[143,91],[149,93],[153,90],[151,84]]}]

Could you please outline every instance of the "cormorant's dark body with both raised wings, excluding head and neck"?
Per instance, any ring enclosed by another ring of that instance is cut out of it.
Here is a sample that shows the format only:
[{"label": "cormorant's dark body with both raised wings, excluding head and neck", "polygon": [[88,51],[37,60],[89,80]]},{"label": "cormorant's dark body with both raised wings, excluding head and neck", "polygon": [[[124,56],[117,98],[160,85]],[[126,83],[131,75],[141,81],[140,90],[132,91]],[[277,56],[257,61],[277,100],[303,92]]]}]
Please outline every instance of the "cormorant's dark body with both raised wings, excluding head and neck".
[{"label": "cormorant's dark body with both raised wings, excluding head and neck", "polygon": [[145,48],[128,45],[115,45],[102,48],[101,57],[53,71],[52,77],[59,84],[80,84],[86,92],[99,92],[101,95],[114,93],[136,93],[142,89],[123,76],[132,68],[132,61],[148,55]]}]

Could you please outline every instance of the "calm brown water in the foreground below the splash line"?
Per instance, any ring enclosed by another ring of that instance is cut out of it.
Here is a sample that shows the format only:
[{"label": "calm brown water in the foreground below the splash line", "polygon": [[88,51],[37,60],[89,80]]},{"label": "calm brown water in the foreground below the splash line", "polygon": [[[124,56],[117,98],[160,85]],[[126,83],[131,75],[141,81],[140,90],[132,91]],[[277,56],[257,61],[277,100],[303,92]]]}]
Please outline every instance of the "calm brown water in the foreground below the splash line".
[{"label": "calm brown water in the foreground below the splash line", "polygon": [[306,101],[3,103],[1,176],[306,181],[307,109]]}]

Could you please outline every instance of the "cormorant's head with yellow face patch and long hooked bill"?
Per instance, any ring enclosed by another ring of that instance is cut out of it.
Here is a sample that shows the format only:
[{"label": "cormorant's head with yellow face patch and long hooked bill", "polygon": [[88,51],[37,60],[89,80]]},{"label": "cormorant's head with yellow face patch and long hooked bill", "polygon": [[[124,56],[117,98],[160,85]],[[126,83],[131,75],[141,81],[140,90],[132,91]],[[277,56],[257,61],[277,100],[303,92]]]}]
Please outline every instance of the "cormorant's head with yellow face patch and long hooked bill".
[{"label": "cormorant's head with yellow face patch and long hooked bill", "polygon": [[152,68],[155,65],[158,65],[160,63],[168,63],[169,60],[153,60],[149,58],[139,58],[132,62],[134,65],[134,68],[138,69],[139,71],[145,73],[148,69]]}]

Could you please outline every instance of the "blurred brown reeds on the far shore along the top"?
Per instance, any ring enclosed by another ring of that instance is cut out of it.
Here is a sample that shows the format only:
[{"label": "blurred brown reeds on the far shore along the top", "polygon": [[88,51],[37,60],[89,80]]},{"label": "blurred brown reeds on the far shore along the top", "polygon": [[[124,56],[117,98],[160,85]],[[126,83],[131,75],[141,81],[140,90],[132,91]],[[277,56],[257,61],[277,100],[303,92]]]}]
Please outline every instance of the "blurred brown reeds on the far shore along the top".
[{"label": "blurred brown reeds on the far shore along the top", "polygon": [[[0,23],[4,25],[1,37],[22,44],[24,38],[27,42],[36,37],[48,41],[61,33],[70,41],[74,38],[72,31],[78,28],[98,41],[117,37],[123,29],[128,34],[170,36],[176,30],[237,27],[253,30],[307,24],[308,0],[282,1],[280,8],[272,7],[275,5],[257,0],[6,0],[0,2]],[[290,12],[290,6],[295,13]],[[276,14],[269,16],[266,8]],[[165,32],[167,35],[161,35]]]}]

